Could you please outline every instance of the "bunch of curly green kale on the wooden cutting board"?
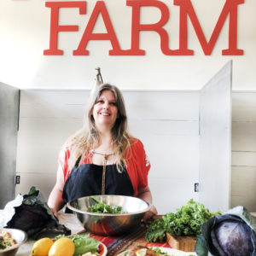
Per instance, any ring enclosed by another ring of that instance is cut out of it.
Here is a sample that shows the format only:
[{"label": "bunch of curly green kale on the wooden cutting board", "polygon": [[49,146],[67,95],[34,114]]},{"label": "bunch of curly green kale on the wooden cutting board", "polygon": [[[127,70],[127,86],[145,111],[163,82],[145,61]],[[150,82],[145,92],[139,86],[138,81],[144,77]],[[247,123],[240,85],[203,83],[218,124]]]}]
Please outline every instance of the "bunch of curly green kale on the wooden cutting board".
[{"label": "bunch of curly green kale on the wooden cutting board", "polygon": [[203,204],[189,200],[186,206],[176,213],[168,212],[162,218],[149,225],[146,239],[163,241],[166,232],[174,236],[200,236],[201,225],[220,212],[210,212]]}]

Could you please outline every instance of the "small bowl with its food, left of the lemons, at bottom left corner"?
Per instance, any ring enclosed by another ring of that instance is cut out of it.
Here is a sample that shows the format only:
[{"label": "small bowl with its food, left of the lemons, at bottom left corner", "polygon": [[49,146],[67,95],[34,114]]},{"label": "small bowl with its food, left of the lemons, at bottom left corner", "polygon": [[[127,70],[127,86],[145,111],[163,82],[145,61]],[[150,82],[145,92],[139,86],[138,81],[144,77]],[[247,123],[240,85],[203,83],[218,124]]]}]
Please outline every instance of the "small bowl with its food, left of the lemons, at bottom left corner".
[{"label": "small bowl with its food, left of the lemons, at bottom left corner", "polygon": [[14,256],[26,238],[23,230],[0,229],[0,256]]}]

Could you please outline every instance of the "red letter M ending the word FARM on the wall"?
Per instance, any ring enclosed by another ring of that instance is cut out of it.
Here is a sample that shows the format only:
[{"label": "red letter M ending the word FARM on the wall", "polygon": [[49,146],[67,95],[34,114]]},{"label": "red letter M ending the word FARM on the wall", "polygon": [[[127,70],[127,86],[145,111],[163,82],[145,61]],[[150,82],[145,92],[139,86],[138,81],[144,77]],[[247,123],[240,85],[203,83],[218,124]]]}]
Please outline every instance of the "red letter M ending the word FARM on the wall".
[{"label": "red letter M ending the word FARM on the wall", "polygon": [[222,55],[243,55],[243,50],[237,49],[237,5],[240,3],[244,3],[244,0],[226,0],[224,8],[218,17],[217,24],[212,32],[212,36],[209,42],[207,42],[207,39],[202,32],[201,25],[197,19],[197,16],[195,15],[195,9],[193,8],[191,1],[174,0],[174,4],[180,6],[180,47],[187,49],[188,46],[187,16],[189,16],[192,25],[194,26],[197,38],[201,44],[201,48],[203,49],[205,55],[211,55],[212,49],[218,39],[219,32],[224,26],[224,21],[226,20],[227,16],[230,15],[229,48],[223,49]]}]

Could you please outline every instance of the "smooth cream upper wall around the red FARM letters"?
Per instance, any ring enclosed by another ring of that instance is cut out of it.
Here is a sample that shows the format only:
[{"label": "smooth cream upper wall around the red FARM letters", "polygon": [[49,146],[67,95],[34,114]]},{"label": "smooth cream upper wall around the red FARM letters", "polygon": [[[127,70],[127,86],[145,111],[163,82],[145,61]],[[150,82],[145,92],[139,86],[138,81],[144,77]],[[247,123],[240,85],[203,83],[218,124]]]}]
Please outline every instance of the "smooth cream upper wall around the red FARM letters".
[{"label": "smooth cream upper wall around the red FARM letters", "polygon": [[[89,56],[73,56],[96,0],[88,1],[87,14],[79,9],[61,9],[61,25],[78,25],[79,32],[61,32],[59,47],[62,56],[45,56],[49,48],[50,9],[47,1],[0,0],[0,81],[24,88],[90,88],[95,67],[102,67],[103,79],[121,89],[199,90],[212,74],[232,59],[234,67],[233,90],[256,90],[256,9],[255,0],[246,0],[238,7],[238,39],[244,55],[224,56],[228,47],[228,24],[225,21],[212,55],[203,54],[195,30],[189,21],[189,49],[193,56],[167,56],[160,51],[160,37],[155,32],[141,32],[144,56],[109,56],[108,41],[89,43]],[[122,49],[130,48],[131,7],[125,0],[105,0],[115,32]],[[170,48],[178,48],[179,7],[173,1],[161,0],[170,11],[166,23]],[[209,39],[218,20],[224,0],[191,0],[201,27]],[[160,19],[158,9],[145,8],[142,22],[154,23]],[[96,23],[96,32],[105,32],[102,20]]]}]

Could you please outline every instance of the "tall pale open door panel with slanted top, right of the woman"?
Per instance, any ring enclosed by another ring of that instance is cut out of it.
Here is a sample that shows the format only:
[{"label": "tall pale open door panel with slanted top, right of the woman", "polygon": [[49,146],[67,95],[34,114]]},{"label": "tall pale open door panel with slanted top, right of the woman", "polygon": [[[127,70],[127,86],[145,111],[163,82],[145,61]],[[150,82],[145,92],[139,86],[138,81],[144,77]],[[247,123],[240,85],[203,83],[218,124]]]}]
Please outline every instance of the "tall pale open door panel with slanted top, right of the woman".
[{"label": "tall pale open door panel with slanted top, right of the woman", "polygon": [[199,201],[230,208],[231,75],[228,62],[201,90]]}]

